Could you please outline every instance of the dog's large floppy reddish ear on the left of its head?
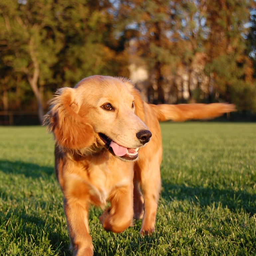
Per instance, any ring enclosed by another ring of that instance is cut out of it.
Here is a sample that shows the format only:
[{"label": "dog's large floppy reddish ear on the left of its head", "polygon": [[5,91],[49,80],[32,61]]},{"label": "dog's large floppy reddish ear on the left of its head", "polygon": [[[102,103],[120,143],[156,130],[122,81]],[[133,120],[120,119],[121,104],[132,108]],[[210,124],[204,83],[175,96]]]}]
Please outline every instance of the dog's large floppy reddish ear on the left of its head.
[{"label": "dog's large floppy reddish ear on the left of its head", "polygon": [[82,149],[95,143],[95,133],[76,111],[75,88],[64,87],[51,100],[51,109],[44,117],[44,124],[53,132],[56,142],[66,148]]}]

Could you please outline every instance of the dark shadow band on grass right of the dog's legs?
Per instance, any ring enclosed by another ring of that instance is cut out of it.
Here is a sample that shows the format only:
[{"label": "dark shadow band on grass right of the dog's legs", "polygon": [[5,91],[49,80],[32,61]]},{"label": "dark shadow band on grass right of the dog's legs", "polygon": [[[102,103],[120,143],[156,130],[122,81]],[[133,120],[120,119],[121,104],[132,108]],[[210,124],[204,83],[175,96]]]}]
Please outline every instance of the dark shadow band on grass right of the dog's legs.
[{"label": "dark shadow band on grass right of the dog's legs", "polygon": [[162,180],[162,187],[162,197],[167,201],[189,200],[199,203],[201,206],[212,205],[215,202],[215,207],[220,202],[223,207],[228,207],[233,212],[243,209],[251,215],[256,213],[256,194],[250,194],[246,191],[190,187],[170,184],[165,180]]}]

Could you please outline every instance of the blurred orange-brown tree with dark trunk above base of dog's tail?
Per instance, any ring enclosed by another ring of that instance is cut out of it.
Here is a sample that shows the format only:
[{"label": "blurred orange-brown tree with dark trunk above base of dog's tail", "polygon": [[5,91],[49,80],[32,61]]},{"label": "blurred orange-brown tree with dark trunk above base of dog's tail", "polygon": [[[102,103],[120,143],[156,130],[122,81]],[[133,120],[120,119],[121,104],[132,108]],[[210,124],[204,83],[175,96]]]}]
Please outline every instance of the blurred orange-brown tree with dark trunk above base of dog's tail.
[{"label": "blurred orange-brown tree with dark trunk above base of dog's tail", "polygon": [[169,40],[173,16],[176,16],[173,5],[168,0],[121,0],[115,5],[118,9],[117,35],[126,35],[128,40],[137,38],[137,54],[156,81],[154,103],[163,103],[163,68],[174,63]]}]

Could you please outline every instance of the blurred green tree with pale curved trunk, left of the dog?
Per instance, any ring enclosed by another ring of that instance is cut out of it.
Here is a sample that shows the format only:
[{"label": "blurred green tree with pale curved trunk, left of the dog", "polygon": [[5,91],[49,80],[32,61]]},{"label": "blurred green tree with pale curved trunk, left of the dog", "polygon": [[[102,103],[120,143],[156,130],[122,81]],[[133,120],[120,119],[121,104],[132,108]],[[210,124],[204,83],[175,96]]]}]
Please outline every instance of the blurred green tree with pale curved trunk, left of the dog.
[{"label": "blurred green tree with pale curved trunk, left of the dog", "polygon": [[26,75],[42,123],[43,86],[51,81],[51,67],[63,48],[61,34],[56,29],[55,1],[1,0],[0,15],[3,62]]}]

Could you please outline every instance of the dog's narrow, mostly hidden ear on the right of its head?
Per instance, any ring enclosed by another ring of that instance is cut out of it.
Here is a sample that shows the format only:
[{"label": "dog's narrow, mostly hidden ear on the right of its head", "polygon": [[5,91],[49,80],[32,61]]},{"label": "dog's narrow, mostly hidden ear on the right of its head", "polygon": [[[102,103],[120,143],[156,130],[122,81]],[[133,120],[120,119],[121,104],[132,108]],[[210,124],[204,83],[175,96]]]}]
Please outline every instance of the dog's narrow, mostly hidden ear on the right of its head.
[{"label": "dog's narrow, mostly hidden ear on the right of its head", "polygon": [[140,91],[135,88],[134,84],[132,84],[129,79],[126,79],[124,77],[118,77],[118,79],[121,80],[132,93],[134,97],[135,114],[145,123],[145,105],[141,97]]}]

